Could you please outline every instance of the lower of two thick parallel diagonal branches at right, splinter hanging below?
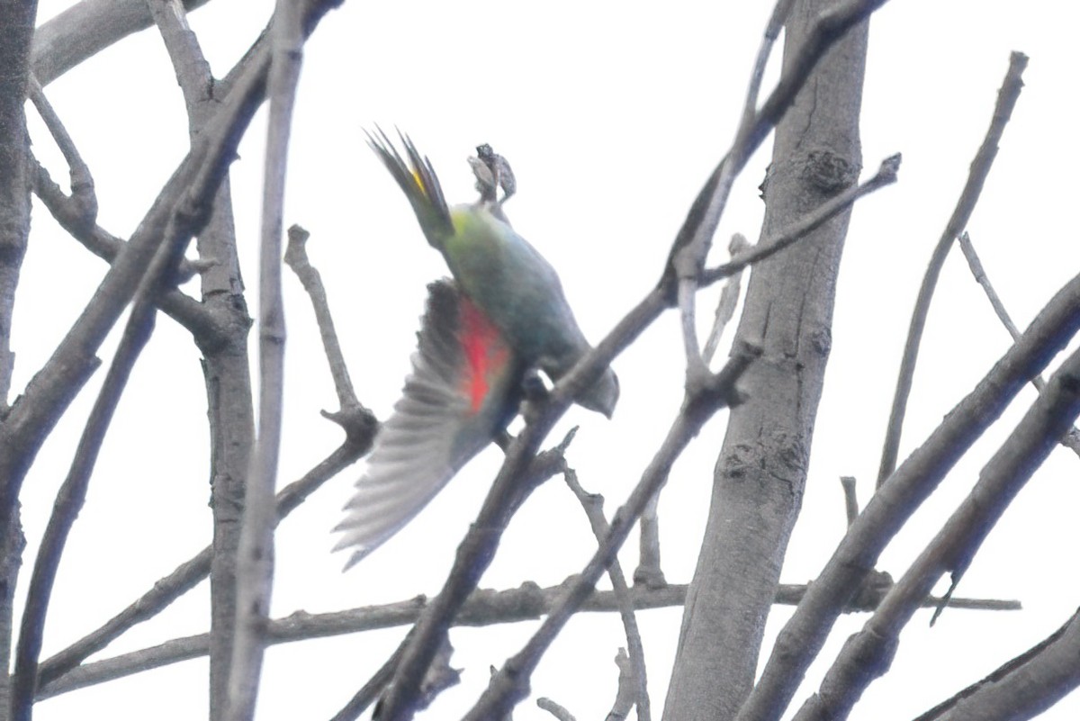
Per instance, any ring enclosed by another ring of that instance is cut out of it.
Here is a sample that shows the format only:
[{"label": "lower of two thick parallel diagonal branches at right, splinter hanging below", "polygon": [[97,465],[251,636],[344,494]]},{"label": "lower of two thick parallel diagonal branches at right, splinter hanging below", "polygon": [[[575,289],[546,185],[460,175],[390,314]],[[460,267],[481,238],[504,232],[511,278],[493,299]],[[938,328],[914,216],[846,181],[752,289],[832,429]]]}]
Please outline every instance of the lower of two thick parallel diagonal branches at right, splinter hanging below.
[{"label": "lower of two thick parallel diagonal branches at right, splinter hanging below", "polygon": [[983,467],[968,498],[886,595],[863,630],[848,639],[795,721],[848,717],[866,686],[889,669],[900,632],[922,599],[946,572],[953,579],[945,594],[949,597],[995,523],[1078,414],[1080,351],[1051,377],[1047,390]]}]

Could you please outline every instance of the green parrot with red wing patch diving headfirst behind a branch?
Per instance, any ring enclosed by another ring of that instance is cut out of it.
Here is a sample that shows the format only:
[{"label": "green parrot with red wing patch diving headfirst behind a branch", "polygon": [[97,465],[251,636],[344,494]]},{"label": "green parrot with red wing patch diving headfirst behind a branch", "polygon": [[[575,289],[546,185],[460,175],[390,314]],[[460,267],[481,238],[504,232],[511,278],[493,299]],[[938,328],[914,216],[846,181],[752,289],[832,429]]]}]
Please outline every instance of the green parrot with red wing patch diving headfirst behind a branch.
[{"label": "green parrot with red wing patch diving headfirst behind a branch", "polygon": [[[402,142],[408,164],[384,133],[368,134],[454,280],[428,286],[413,372],[335,529],[342,533],[335,550],[353,552],[347,569],[401,530],[505,430],[529,372],[557,381],[592,350],[555,269],[510,227],[505,196],[495,200],[508,176],[477,172],[481,200],[451,208],[430,161],[407,136]],[[492,187],[480,187],[492,178]],[[577,402],[610,418],[618,399],[619,380],[608,368]]]}]

